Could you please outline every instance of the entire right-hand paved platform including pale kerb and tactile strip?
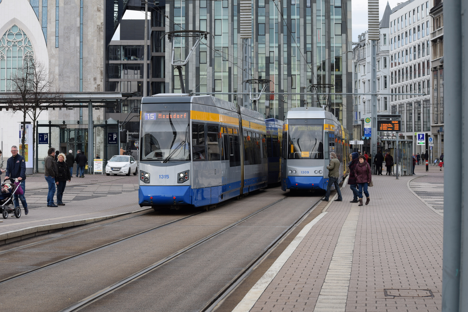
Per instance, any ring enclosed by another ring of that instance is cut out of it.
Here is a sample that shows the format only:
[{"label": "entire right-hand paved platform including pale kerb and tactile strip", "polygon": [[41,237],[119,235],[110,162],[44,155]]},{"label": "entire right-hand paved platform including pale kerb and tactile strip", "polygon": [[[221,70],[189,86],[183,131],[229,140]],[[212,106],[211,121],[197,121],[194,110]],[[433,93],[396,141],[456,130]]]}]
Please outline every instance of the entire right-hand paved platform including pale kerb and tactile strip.
[{"label": "entire right-hand paved platform including pale kerb and tactile strip", "polygon": [[440,176],[418,169],[399,180],[374,175],[371,202],[361,207],[344,186],[344,201],[331,202],[234,311],[440,311],[443,217],[409,187]]}]

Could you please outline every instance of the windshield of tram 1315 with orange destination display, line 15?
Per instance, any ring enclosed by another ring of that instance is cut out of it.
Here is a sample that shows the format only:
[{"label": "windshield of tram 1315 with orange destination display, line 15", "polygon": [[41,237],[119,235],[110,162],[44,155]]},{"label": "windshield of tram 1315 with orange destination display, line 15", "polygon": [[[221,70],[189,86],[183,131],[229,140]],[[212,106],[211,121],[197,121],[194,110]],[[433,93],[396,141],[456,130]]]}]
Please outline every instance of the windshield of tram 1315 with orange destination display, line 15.
[{"label": "windshield of tram 1315 with orange destination display, line 15", "polygon": [[141,160],[190,160],[189,112],[141,112]]}]

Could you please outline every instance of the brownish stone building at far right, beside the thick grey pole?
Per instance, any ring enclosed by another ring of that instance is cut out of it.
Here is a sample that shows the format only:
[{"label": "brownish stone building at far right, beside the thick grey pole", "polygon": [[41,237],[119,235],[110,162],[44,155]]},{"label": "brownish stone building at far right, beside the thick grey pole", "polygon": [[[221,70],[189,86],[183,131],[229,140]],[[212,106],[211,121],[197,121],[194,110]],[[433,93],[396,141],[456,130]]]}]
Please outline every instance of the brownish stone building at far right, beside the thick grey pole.
[{"label": "brownish stone building at far right, beside the thick grey pole", "polygon": [[443,0],[434,0],[431,8],[433,25],[431,28],[431,80],[432,80],[432,123],[434,137],[434,157],[444,152],[444,14]]}]

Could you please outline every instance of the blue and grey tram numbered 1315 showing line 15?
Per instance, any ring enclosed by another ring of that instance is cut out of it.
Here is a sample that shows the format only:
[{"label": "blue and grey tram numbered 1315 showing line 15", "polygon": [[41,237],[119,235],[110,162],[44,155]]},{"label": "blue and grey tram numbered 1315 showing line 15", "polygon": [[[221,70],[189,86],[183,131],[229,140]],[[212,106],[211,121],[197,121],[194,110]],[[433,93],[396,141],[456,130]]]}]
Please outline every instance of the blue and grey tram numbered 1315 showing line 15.
[{"label": "blue and grey tram numbered 1315 showing line 15", "polygon": [[263,115],[211,95],[144,97],[139,205],[214,207],[268,183]]}]

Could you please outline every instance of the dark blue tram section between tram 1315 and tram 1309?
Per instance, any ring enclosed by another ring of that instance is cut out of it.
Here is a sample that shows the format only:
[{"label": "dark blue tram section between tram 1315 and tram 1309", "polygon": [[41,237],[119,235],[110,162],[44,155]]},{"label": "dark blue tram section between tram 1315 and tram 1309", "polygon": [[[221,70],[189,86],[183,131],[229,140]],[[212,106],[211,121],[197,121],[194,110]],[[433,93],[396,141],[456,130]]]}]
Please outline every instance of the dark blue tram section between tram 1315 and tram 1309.
[{"label": "dark blue tram section between tram 1315 and tram 1309", "polygon": [[268,184],[281,181],[281,143],[283,141],[283,122],[276,118],[265,119],[266,145],[268,156]]}]

